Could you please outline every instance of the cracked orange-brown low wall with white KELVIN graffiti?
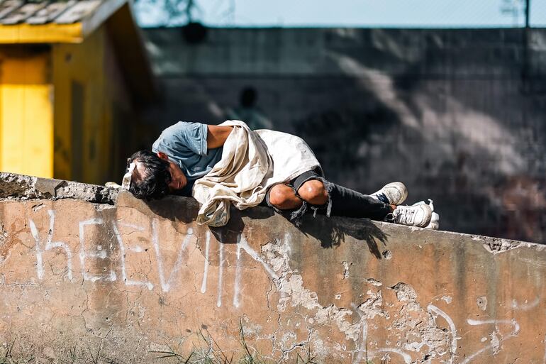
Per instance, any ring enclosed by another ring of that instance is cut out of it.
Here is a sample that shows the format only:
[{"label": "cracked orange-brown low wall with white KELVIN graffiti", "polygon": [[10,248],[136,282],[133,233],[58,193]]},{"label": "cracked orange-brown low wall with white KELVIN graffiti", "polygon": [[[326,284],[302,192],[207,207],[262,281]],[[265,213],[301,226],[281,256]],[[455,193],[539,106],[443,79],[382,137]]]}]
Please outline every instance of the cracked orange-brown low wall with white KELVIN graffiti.
[{"label": "cracked orange-brown low wall with white KELVIN graffiti", "polygon": [[242,332],[286,363],[544,363],[545,246],[262,207],[212,229],[194,199],[0,177],[3,353],[165,363],[204,336],[238,358]]}]

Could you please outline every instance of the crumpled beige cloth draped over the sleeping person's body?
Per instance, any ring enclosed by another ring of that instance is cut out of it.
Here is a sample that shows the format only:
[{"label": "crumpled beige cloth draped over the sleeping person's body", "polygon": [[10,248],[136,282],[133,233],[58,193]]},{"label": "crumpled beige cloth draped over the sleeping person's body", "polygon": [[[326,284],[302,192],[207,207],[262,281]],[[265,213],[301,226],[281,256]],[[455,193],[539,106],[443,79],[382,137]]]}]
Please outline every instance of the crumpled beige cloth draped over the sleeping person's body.
[{"label": "crumpled beige cloth draped over the sleeping person's body", "polygon": [[201,204],[198,224],[224,226],[231,204],[240,210],[257,206],[274,184],[321,167],[311,148],[297,136],[251,131],[236,120],[220,125],[234,128],[223,145],[222,159],[194,184],[192,195]]}]

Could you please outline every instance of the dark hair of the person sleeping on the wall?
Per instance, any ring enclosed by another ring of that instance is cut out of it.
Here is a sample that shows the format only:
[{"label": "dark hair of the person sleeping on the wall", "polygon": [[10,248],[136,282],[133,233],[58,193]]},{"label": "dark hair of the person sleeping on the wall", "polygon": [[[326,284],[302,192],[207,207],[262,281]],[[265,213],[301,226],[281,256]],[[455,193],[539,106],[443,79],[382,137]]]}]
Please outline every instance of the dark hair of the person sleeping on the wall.
[{"label": "dark hair of the person sleeping on the wall", "polygon": [[169,162],[157,157],[150,150],[139,150],[131,155],[127,160],[127,167],[135,161],[142,163],[146,170],[140,179],[133,177],[129,192],[138,199],[150,200],[164,197],[169,192],[171,182]]}]

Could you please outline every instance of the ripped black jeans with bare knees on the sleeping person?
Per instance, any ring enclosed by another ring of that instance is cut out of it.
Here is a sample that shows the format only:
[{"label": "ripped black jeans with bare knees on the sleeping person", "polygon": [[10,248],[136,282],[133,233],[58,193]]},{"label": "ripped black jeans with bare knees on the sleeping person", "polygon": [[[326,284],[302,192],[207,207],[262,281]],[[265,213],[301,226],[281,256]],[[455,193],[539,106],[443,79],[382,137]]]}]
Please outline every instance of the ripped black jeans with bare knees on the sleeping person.
[{"label": "ripped black jeans with bare knees on the sleeping person", "polygon": [[[325,211],[326,216],[346,216],[366,218],[377,221],[383,221],[387,214],[391,213],[391,206],[384,204],[383,202],[369,197],[367,194],[361,194],[360,192],[353,191],[346,187],[342,187],[339,184],[328,182],[320,174],[321,170],[310,170],[303,172],[298,177],[291,180],[286,185],[294,189],[294,194],[300,197],[298,190],[301,185],[309,180],[318,180],[323,182],[326,191],[328,192],[328,202],[321,206],[311,205],[306,201],[303,201],[299,209],[291,212],[290,220],[294,221],[296,225],[299,225],[301,216],[305,214],[308,208],[313,209],[314,214],[317,211]],[[282,211],[277,209],[269,202],[269,191],[265,195],[265,203],[267,206],[272,207],[275,211]],[[301,197],[300,197],[301,198]],[[286,210],[284,210],[286,211]]]}]

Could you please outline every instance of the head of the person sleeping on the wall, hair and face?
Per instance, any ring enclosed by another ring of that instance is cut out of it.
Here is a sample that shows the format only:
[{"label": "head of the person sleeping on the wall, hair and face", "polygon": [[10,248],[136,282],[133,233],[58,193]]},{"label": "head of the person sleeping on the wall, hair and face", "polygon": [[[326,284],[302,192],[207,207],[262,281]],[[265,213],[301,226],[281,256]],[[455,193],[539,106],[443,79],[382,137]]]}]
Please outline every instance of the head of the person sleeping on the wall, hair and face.
[{"label": "head of the person sleeping on the wall, hair and face", "polygon": [[138,199],[160,199],[187,184],[184,172],[165,153],[140,150],[128,158],[127,165],[131,162],[136,167],[129,191]]}]

